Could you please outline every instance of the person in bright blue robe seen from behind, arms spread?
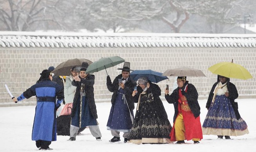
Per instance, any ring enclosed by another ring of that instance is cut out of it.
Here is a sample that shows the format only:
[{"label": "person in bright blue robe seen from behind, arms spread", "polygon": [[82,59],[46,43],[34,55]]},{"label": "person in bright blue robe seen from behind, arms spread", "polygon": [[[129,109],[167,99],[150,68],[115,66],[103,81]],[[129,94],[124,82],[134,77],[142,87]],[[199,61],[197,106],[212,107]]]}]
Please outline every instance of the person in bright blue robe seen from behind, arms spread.
[{"label": "person in bright blue robe seen from behind, arms spread", "polygon": [[[51,141],[56,141],[56,109],[64,100],[60,85],[51,81],[52,72],[42,71],[38,83],[28,88],[13,101],[21,101],[36,95],[36,111],[32,131],[32,140],[36,141],[38,150],[51,150]],[[56,101],[56,98],[58,99]]]}]

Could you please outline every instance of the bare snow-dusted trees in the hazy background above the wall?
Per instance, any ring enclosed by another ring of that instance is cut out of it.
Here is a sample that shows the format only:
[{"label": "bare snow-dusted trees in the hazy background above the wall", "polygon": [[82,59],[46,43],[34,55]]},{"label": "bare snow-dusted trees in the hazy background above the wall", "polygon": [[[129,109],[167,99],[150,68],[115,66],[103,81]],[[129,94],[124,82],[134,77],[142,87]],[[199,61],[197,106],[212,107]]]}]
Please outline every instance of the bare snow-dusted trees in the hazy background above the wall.
[{"label": "bare snow-dusted trees in the hazy background above the wall", "polygon": [[253,22],[255,6],[255,0],[0,0],[0,30],[223,33]]}]

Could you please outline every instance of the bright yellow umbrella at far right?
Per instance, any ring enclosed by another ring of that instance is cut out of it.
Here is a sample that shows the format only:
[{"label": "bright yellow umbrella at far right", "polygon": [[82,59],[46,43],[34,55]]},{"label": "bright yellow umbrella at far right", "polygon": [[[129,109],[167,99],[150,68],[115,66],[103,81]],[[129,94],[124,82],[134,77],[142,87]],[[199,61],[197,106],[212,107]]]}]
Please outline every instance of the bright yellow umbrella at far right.
[{"label": "bright yellow umbrella at far right", "polygon": [[208,70],[211,71],[213,74],[218,74],[227,78],[236,78],[243,80],[252,78],[250,72],[243,66],[239,64],[234,64],[233,59],[232,62],[221,62],[218,64],[214,64],[209,67]]}]

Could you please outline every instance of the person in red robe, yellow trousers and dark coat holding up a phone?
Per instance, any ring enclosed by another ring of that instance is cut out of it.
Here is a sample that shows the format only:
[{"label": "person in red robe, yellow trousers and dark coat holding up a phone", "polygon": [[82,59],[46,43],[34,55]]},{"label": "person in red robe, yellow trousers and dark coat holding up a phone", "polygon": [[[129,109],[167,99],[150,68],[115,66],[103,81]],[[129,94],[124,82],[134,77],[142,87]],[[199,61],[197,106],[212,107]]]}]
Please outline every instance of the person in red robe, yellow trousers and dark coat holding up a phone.
[{"label": "person in red robe, yellow trousers and dark coat holding up a phone", "polygon": [[198,93],[194,85],[187,81],[186,76],[178,76],[178,88],[169,95],[165,88],[165,99],[174,104],[174,117],[176,118],[171,131],[171,141],[176,144],[185,143],[184,140],[193,140],[199,143],[203,139],[200,123],[200,106],[198,104]]}]

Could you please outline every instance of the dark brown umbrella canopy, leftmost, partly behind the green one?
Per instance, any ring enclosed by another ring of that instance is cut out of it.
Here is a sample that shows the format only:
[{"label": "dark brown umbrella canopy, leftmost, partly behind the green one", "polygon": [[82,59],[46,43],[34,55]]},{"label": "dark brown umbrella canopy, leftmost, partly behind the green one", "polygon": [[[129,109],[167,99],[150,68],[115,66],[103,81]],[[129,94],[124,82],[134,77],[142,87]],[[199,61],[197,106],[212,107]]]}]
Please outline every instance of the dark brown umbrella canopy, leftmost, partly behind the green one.
[{"label": "dark brown umbrella canopy, leftmost, partly behind the green one", "polygon": [[73,66],[81,67],[83,62],[87,62],[88,64],[92,64],[90,60],[84,59],[84,58],[74,58],[69,59],[65,62],[62,62],[59,64],[54,70],[53,73],[57,76],[69,76],[70,75],[70,69]]}]

